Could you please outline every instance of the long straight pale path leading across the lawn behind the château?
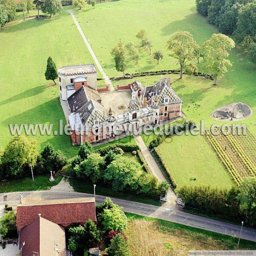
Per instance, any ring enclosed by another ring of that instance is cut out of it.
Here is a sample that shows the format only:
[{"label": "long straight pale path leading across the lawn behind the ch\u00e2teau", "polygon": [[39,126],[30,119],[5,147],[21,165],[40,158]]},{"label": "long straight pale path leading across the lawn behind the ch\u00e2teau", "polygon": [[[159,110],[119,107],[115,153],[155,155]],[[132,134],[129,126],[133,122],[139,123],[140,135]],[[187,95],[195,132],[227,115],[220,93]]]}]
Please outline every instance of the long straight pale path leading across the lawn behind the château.
[{"label": "long straight pale path leading across the lawn behind the ch\u00e2teau", "polygon": [[92,47],[91,47],[90,44],[89,44],[89,41],[87,40],[86,36],[84,35],[84,32],[83,32],[83,30],[81,29],[81,26],[79,25],[79,23],[78,23],[78,21],[77,21],[75,15],[74,15],[73,10],[67,10],[67,12],[69,12],[70,15],[72,16],[72,18],[73,18],[73,20],[74,20],[74,22],[75,22],[75,24],[76,24],[76,26],[77,26],[77,28],[78,28],[78,30],[79,30],[79,33],[81,34],[81,36],[82,36],[82,38],[83,38],[83,40],[84,40],[84,43],[86,44],[86,46],[87,46],[87,48],[88,48],[90,54],[92,55],[93,60],[95,61],[96,66],[98,67],[99,72],[102,74],[102,76],[103,76],[103,78],[104,78],[106,84],[110,86],[110,90],[115,90],[114,87],[113,87],[113,84],[112,84],[111,80],[109,79],[109,77],[107,76],[107,74],[105,73],[105,71],[103,70],[101,64],[99,63],[98,58],[96,57],[95,53],[93,52]]}]

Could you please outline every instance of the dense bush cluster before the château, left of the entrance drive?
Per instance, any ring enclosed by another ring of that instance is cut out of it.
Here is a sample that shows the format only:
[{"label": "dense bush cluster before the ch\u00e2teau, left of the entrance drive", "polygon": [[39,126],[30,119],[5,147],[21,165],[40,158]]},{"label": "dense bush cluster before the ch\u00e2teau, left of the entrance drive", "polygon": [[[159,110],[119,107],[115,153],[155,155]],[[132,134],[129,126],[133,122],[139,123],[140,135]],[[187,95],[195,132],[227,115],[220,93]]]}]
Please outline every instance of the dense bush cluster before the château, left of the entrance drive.
[{"label": "dense bush cluster before the ch\u00e2teau, left of the entrance drive", "polygon": [[143,166],[147,172],[139,163],[123,157],[124,152],[133,151],[139,152],[139,147],[119,143],[94,151],[86,142],[80,146],[77,157],[71,163],[73,173],[78,178],[111,186],[113,191],[163,196],[169,189],[168,183],[159,183],[146,163]]}]

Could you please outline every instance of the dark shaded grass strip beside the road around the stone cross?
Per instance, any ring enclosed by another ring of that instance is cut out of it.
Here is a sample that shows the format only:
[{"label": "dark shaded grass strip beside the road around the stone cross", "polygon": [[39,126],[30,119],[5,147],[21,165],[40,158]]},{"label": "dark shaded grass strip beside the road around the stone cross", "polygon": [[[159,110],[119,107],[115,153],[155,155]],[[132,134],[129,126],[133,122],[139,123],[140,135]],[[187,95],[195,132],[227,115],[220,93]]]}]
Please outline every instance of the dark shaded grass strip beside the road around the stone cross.
[{"label": "dark shaded grass strip beside the road around the stone cross", "polygon": [[58,177],[56,177],[54,181],[49,181],[49,178],[46,175],[42,175],[35,177],[34,182],[30,177],[0,182],[0,193],[47,190],[48,188],[57,185],[61,181],[61,178],[61,175],[58,175]]}]

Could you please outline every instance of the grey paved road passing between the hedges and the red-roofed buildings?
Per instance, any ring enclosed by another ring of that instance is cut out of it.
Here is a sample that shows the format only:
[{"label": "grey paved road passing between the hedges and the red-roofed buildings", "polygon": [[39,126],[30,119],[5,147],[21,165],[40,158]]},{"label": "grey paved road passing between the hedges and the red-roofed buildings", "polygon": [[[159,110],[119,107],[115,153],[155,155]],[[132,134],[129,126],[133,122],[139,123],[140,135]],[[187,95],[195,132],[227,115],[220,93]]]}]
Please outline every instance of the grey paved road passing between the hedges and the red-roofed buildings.
[{"label": "grey paved road passing between the hedges and the red-roofed buildings", "polygon": [[[7,195],[8,200],[3,201],[3,196]],[[64,198],[81,198],[81,197],[92,197],[90,194],[83,194],[77,192],[59,192],[59,191],[39,191],[39,192],[19,192],[19,193],[5,193],[0,194],[0,206],[4,204],[18,204],[19,197],[39,197],[42,200],[51,199],[64,199]],[[105,197],[96,195],[96,203],[104,201]],[[125,201],[121,199],[112,198],[112,200],[123,207],[125,212],[136,213],[143,216],[154,217],[163,219],[166,221],[172,221],[179,224],[184,224],[190,227],[197,227],[204,230],[209,230],[216,233],[225,234],[228,236],[238,237],[240,233],[240,227],[224,223],[221,221],[215,221],[208,218],[192,215],[186,212],[181,212],[175,208],[169,208],[168,204],[163,204],[161,207],[151,206],[147,204],[141,204],[131,201]],[[256,230],[244,228],[241,234],[242,239],[247,239],[256,242]]]}]

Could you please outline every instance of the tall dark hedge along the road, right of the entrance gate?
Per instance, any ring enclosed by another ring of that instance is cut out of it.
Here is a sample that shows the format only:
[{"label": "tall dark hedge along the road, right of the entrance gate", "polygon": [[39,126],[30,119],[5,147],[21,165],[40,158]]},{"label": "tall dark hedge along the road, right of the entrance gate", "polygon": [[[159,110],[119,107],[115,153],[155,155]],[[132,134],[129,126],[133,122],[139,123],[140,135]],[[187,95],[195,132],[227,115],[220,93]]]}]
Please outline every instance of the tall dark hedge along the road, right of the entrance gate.
[{"label": "tall dark hedge along the road, right of the entrance gate", "polygon": [[177,190],[186,208],[256,226],[256,177],[244,178],[230,190],[207,186],[183,186]]}]

